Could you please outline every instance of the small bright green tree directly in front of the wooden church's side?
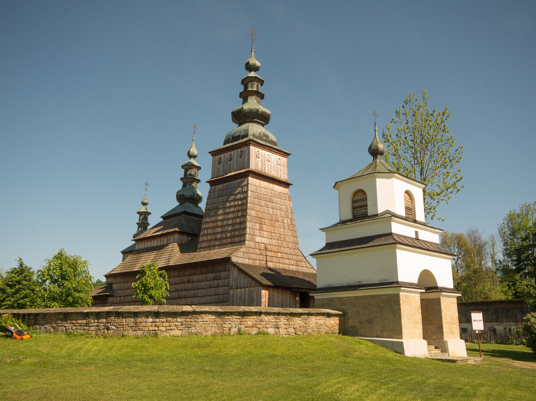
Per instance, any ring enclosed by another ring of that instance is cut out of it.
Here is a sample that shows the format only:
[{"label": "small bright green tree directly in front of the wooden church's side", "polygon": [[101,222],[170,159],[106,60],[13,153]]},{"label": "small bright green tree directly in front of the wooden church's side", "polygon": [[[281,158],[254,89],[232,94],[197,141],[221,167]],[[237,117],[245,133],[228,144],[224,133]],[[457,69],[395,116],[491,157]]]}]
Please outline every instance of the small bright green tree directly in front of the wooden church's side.
[{"label": "small bright green tree directly in front of the wooden church's side", "polygon": [[155,302],[166,303],[165,297],[169,295],[169,283],[167,273],[158,270],[158,263],[143,264],[136,278],[138,281],[132,283],[132,288],[136,288],[132,296],[138,296],[142,300],[142,305],[153,305]]}]

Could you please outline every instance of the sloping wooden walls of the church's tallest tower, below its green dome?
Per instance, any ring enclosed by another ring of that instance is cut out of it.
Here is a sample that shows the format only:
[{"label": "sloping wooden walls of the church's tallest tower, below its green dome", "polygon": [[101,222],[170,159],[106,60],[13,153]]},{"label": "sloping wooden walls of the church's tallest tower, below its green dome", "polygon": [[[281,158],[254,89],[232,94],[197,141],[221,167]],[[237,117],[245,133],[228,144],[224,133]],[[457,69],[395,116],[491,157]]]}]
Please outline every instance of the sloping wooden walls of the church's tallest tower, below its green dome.
[{"label": "sloping wooden walls of the church's tallest tower, below its green dome", "polygon": [[[234,261],[314,272],[297,240],[288,154],[257,143],[211,154],[211,188],[198,251],[243,246]],[[215,180],[218,177],[225,180]]]}]

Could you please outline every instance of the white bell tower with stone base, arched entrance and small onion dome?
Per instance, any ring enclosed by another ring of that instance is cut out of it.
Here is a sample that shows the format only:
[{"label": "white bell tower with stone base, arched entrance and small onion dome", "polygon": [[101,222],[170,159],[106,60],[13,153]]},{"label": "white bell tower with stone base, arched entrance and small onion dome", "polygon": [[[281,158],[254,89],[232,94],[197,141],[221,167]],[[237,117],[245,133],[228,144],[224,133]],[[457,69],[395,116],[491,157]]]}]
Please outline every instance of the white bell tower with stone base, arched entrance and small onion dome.
[{"label": "white bell tower with stone base, arched entrance and small onion dome", "polygon": [[436,346],[466,356],[452,254],[440,246],[441,230],[424,222],[425,185],[382,160],[376,122],[374,131],[373,161],[334,185],[339,222],[322,228],[326,244],[312,254],[316,307],[344,311],[348,335],[405,355],[426,357]]}]

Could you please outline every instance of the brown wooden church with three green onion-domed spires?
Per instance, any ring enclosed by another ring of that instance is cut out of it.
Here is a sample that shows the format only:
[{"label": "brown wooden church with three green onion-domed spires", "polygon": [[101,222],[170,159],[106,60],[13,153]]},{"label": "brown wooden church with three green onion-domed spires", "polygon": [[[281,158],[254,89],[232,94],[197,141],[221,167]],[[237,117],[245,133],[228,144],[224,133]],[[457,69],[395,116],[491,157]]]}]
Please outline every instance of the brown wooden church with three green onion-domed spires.
[{"label": "brown wooden church with three green onion-domed spires", "polygon": [[[252,38],[253,39],[253,38]],[[182,165],[178,205],[148,228],[147,198],[138,211],[134,244],[123,261],[94,289],[93,306],[140,305],[132,283],[140,266],[157,262],[168,275],[168,305],[312,307],[316,271],[298,246],[288,181],[290,153],[266,130],[260,63],[245,62],[242,105],[232,110],[238,125],[210,152],[212,175],[205,210],[197,189],[195,132]]]}]

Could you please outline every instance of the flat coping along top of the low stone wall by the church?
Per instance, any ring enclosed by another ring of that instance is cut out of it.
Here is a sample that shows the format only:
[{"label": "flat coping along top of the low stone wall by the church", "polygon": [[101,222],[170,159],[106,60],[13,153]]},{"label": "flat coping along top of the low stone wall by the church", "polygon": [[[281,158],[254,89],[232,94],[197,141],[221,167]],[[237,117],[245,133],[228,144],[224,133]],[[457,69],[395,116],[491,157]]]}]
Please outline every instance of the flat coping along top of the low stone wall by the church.
[{"label": "flat coping along top of the low stone wall by the church", "polygon": [[343,315],[331,309],[269,308],[256,306],[195,306],[195,305],[148,305],[148,306],[104,306],[87,308],[50,309],[4,309],[0,314],[54,314],[54,313],[102,313],[102,312],[149,312],[149,313],[249,313],[249,314],[308,314]]}]

